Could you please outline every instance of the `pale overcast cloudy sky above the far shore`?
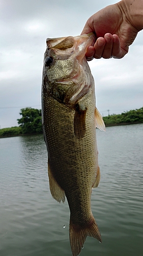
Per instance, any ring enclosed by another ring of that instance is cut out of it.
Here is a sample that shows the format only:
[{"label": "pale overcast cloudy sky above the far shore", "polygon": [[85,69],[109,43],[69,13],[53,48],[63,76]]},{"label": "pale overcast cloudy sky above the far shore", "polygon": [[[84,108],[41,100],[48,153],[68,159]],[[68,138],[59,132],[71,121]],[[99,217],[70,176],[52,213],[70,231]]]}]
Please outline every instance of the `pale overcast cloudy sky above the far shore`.
[{"label": "pale overcast cloudy sky above the far shore", "polygon": [[[20,109],[41,109],[47,37],[80,35],[85,22],[113,0],[0,1],[0,129],[18,126]],[[89,62],[102,116],[143,106],[143,32],[123,59]]]}]

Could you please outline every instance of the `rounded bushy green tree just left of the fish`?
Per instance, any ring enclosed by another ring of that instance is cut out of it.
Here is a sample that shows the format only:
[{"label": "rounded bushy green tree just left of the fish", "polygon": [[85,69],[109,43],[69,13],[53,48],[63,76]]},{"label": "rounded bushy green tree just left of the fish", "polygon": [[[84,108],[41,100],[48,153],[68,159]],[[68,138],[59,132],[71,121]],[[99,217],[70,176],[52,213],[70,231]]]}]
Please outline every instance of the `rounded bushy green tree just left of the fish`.
[{"label": "rounded bushy green tree just left of the fish", "polygon": [[17,119],[21,126],[22,134],[42,133],[41,110],[25,108],[20,110],[22,118]]}]

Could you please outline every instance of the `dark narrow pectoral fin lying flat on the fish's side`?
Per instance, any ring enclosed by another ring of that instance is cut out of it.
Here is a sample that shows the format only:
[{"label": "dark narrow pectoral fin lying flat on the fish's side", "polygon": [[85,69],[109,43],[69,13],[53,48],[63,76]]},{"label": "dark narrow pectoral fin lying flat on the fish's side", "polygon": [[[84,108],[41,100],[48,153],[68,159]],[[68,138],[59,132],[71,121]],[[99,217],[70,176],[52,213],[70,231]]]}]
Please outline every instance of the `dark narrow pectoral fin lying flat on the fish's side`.
[{"label": "dark narrow pectoral fin lying flat on the fish's side", "polygon": [[85,118],[87,110],[81,110],[79,105],[76,104],[76,110],[74,114],[74,134],[78,139],[81,139],[85,135]]}]

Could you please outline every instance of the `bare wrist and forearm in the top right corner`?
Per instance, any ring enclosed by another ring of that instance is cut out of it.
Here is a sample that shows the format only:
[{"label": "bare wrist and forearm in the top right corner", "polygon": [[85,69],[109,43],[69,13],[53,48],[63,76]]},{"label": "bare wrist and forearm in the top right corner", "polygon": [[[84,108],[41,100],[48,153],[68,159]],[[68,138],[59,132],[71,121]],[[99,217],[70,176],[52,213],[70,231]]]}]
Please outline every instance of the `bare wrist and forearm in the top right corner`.
[{"label": "bare wrist and forearm in the top right corner", "polygon": [[122,0],[118,3],[129,22],[138,30],[143,29],[143,0]]}]

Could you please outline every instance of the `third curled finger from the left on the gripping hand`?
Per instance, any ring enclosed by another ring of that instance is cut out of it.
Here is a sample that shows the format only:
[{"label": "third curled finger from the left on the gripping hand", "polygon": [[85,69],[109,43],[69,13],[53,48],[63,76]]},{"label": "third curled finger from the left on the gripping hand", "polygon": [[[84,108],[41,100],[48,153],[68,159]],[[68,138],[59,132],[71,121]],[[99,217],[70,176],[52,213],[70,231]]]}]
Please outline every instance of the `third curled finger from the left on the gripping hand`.
[{"label": "third curled finger from the left on the gripping hand", "polygon": [[102,53],[102,57],[109,59],[112,56],[112,46],[113,46],[113,36],[110,33],[105,34],[104,36],[106,44]]}]

